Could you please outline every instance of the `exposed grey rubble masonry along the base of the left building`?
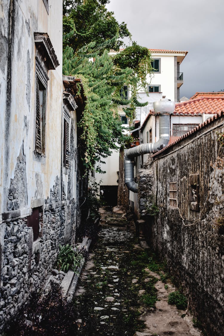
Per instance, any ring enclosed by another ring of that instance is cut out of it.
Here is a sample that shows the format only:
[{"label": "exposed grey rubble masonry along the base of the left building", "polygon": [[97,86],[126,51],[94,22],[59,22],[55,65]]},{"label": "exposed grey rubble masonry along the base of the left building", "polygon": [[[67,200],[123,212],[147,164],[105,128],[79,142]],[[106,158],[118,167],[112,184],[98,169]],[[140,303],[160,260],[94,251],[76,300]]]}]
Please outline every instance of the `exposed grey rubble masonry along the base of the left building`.
[{"label": "exposed grey rubble masonry along the base of the left building", "polygon": [[[59,244],[64,243],[68,203],[60,201],[59,179],[56,177],[50,197],[40,211],[41,227],[35,242],[33,229],[27,226],[27,217],[9,219],[1,224],[0,330],[27,301],[30,293],[39,291],[51,275]],[[74,202],[70,203],[74,207]]]}]

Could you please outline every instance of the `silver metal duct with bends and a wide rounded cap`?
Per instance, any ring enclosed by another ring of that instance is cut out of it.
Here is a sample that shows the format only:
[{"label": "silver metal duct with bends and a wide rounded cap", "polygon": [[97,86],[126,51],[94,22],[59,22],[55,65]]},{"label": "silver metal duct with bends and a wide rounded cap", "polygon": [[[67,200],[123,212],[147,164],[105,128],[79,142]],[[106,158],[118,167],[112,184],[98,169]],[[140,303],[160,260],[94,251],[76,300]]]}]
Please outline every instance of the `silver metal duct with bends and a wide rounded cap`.
[{"label": "silver metal duct with bends and a wide rounded cap", "polygon": [[159,114],[159,140],[156,142],[142,143],[139,146],[125,151],[124,168],[125,184],[128,190],[138,192],[138,184],[134,181],[134,158],[142,154],[155,153],[168,145],[170,140],[170,114],[174,112],[175,102],[168,99],[161,99],[153,103],[154,112]]}]

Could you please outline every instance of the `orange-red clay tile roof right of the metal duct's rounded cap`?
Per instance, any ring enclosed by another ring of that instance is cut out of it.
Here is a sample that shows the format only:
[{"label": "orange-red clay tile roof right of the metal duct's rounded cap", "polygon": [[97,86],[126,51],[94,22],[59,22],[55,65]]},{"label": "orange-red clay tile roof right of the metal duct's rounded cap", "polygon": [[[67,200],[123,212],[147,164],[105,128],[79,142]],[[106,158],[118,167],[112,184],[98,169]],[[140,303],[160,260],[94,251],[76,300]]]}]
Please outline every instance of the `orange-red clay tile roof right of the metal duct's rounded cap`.
[{"label": "orange-red clay tile roof right of the metal duct's rounded cap", "polygon": [[202,97],[176,103],[173,115],[199,116],[206,114],[220,114],[224,109],[224,97]]}]

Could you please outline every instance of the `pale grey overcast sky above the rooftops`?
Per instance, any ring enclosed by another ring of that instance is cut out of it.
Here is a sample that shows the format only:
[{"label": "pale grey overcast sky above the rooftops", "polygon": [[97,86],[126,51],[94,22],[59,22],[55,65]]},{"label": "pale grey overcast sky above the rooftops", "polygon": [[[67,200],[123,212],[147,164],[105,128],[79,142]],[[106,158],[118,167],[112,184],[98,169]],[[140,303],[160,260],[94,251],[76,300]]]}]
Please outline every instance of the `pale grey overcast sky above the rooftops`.
[{"label": "pale grey overcast sky above the rooftops", "polygon": [[224,0],[110,0],[107,8],[138,44],[188,51],[180,97],[224,90]]}]

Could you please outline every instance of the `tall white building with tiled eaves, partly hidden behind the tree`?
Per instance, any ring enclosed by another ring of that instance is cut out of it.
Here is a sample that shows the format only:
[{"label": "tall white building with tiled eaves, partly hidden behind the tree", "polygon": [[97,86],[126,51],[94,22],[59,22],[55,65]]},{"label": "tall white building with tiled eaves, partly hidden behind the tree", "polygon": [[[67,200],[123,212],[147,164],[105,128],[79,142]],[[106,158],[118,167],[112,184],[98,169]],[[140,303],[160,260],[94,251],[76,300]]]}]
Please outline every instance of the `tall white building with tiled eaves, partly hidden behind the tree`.
[{"label": "tall white building with tiled eaves, partly hidden behind the tree", "polygon": [[[152,74],[147,77],[147,92],[139,89],[138,100],[142,102],[148,102],[145,107],[136,108],[136,116],[134,122],[140,121],[140,126],[144,123],[145,119],[153,109],[153,102],[158,101],[161,98],[168,98],[172,101],[179,101],[180,98],[180,86],[183,84],[183,73],[180,72],[180,64],[187,55],[188,51],[177,50],[160,50],[149,49],[152,57]],[[110,52],[111,55],[116,52]],[[130,92],[128,88],[124,90],[123,98],[128,99]],[[122,111],[122,107],[119,107],[119,114],[124,121],[125,126],[128,126],[128,120],[125,118],[125,114]],[[156,119],[156,118],[154,118]],[[152,122],[150,130],[148,130],[148,140],[152,141],[156,138],[156,129],[159,135],[159,124],[156,120]],[[156,128],[155,128],[156,125]],[[133,132],[136,136],[138,131]],[[142,139],[141,139],[142,140]],[[101,185],[103,192],[110,194],[111,198],[114,197],[114,193],[118,188],[118,174],[119,171],[119,151],[113,152],[111,157],[106,158],[105,164],[101,165],[101,169],[106,171],[106,174],[95,173],[96,182]],[[113,192],[112,192],[113,191]]]}]

